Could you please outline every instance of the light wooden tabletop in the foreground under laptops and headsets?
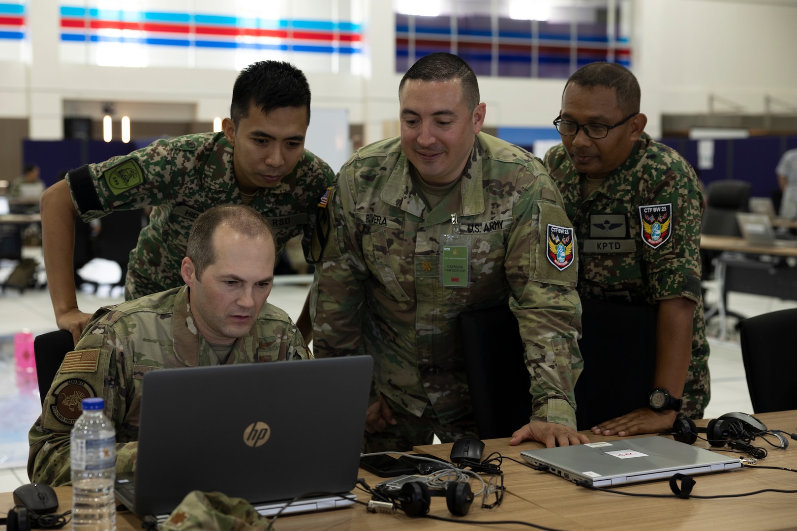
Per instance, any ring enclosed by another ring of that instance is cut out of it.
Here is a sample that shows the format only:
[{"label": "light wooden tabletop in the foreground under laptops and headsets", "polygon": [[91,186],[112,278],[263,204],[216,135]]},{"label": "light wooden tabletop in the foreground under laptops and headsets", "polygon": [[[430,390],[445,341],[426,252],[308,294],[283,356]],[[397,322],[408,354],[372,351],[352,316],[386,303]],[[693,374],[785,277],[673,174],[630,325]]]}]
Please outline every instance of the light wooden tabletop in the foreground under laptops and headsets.
[{"label": "light wooden tabletop in the foreground under laptops and headsets", "polygon": [[[797,431],[797,410],[788,412],[762,413],[757,418],[769,428],[781,429],[788,433]],[[705,426],[708,420],[698,421]],[[588,434],[592,441],[614,440],[618,437],[602,437]],[[759,443],[760,439],[756,439]],[[793,442],[793,441],[792,441]],[[492,451],[502,455],[520,458],[520,451],[542,447],[540,443],[523,443],[508,446],[508,439],[485,441],[485,456]],[[794,442],[793,442],[794,443]],[[698,446],[709,447],[705,441]],[[765,443],[758,444],[769,449],[767,459],[760,465],[773,467],[797,467],[797,443],[787,450],[771,448]],[[450,444],[416,447],[416,451],[448,457]],[[504,502],[493,510],[481,509],[481,497],[473,502],[468,520],[496,521],[518,520],[544,525],[554,529],[795,529],[797,509],[795,494],[764,493],[744,498],[689,499],[677,498],[631,498],[619,494],[609,494],[587,490],[548,472],[538,472],[520,463],[504,460],[504,484],[507,491]],[[369,485],[383,481],[364,470],[360,475]],[[697,484],[692,494],[732,494],[752,490],[776,488],[797,490],[797,474],[785,470],[756,470],[743,468],[717,474],[695,476]],[[627,492],[648,494],[671,494],[668,482],[654,481],[622,486]],[[71,487],[57,487],[61,500],[59,511],[68,510],[71,503]],[[367,494],[358,493],[363,502]],[[5,514],[12,505],[11,494],[0,494],[0,513]],[[438,517],[451,517],[446,509],[445,498],[432,498],[430,514]],[[0,526],[2,527],[2,526]],[[132,513],[118,513],[116,527],[119,531],[140,529],[140,521]],[[367,531],[392,529],[469,529],[461,524],[434,521],[427,518],[410,518],[402,513],[367,513],[363,506],[353,506],[340,510],[312,514],[296,514],[280,517],[274,525],[277,531],[304,529],[331,529],[335,531]],[[473,526],[473,529],[530,529],[523,525]]]}]

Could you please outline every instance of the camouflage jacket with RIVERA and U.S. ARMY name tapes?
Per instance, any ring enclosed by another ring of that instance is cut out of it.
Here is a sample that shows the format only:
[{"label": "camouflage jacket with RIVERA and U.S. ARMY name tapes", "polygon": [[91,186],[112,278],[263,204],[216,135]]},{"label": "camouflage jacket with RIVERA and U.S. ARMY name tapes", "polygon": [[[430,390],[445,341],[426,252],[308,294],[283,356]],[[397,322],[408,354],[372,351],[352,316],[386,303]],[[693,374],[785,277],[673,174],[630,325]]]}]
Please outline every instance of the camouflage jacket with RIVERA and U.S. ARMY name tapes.
[{"label": "camouflage jacket with RIVERA and U.S. ARMY name tapes", "polygon": [[[337,187],[311,291],[316,357],[371,354],[371,400],[380,392],[415,416],[431,404],[446,423],[472,410],[457,314],[508,301],[531,373],[532,420],[575,427],[575,248],[572,267],[548,259],[548,224],[571,225],[540,159],[481,133],[460,182],[430,211],[400,140],[387,139],[355,153]],[[439,252],[454,213],[470,242],[470,287],[442,287]]]}]

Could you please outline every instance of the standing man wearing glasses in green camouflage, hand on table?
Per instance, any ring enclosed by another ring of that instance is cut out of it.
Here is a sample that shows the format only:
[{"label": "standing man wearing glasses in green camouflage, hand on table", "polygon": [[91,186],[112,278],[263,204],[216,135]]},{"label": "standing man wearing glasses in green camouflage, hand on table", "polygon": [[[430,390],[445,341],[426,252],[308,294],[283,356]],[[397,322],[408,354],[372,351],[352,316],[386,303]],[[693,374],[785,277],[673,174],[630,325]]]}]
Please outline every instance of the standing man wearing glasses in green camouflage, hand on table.
[{"label": "standing man wearing glasses in green camouflage, hand on table", "polygon": [[677,412],[702,418],[709,402],[703,196],[692,166],[643,132],[639,100],[636,78],[619,64],[580,68],[567,80],[554,122],[563,144],[544,161],[579,242],[579,295],[658,306],[650,407],[592,428],[603,435],[661,431]]}]

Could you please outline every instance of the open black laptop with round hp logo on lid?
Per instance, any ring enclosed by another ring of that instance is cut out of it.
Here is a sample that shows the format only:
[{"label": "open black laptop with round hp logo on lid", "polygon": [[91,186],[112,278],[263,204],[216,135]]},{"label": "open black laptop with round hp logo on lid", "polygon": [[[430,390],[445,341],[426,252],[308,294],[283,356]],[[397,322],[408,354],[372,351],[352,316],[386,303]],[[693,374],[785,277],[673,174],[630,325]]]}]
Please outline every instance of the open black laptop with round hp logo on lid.
[{"label": "open black laptop with round hp logo on lid", "polygon": [[264,515],[311,493],[325,495],[283,513],[353,504],[372,369],[353,356],[148,372],[135,474],[117,474],[116,498],[159,523],[191,490]]}]

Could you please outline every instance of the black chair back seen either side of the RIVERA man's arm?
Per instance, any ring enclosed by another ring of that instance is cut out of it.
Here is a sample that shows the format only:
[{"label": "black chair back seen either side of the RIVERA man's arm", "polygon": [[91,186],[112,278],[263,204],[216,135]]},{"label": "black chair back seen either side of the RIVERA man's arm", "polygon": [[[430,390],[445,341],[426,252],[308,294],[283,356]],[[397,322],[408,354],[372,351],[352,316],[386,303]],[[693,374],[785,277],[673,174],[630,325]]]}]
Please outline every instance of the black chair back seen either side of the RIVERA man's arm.
[{"label": "black chair back seen either side of the RIVERA man's arm", "polygon": [[[653,306],[582,299],[584,369],[575,385],[579,430],[647,405],[656,369]],[[465,374],[479,436],[509,437],[532,415],[528,369],[508,305],[458,317]]]}]

